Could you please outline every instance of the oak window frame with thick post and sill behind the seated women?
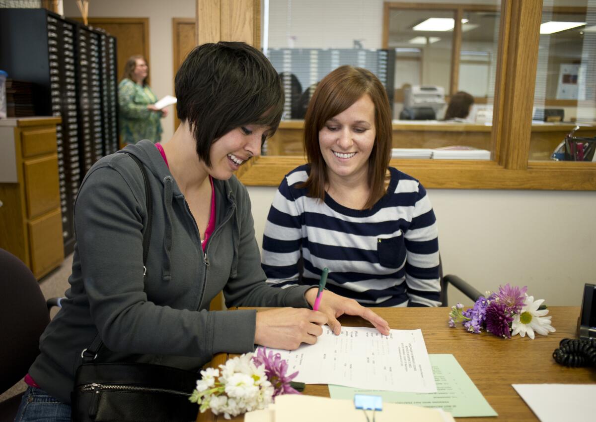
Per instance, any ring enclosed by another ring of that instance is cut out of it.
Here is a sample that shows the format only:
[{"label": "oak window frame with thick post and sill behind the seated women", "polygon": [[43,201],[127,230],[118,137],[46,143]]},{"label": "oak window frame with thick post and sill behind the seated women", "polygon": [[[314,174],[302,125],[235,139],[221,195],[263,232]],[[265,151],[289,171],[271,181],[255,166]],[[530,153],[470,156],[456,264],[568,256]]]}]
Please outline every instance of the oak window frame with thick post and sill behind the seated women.
[{"label": "oak window frame with thick post and sill behind the seated women", "polygon": [[[197,18],[204,3],[197,0]],[[256,3],[254,0],[254,7]],[[386,2],[386,10],[391,4]],[[474,10],[474,5],[464,9]],[[541,17],[542,0],[502,1],[491,136],[493,161],[391,160],[390,165],[435,189],[596,190],[596,162],[528,162]],[[206,18],[203,14],[203,21],[209,22]],[[260,12],[250,14],[250,20],[256,34]],[[200,26],[201,20],[197,21]],[[198,41],[199,33],[197,29]],[[285,174],[305,162],[304,157],[256,157],[238,170],[237,177],[247,186],[278,186]]]}]

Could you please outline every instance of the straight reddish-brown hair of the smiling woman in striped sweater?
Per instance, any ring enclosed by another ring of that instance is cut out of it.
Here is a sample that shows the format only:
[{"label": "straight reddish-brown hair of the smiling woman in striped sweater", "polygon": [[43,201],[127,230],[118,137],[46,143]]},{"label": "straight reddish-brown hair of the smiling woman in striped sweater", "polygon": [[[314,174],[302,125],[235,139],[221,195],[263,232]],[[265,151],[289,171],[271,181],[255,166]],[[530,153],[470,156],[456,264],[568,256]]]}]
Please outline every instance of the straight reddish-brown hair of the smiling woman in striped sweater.
[{"label": "straight reddish-brown hair of the smiling woman in striped sweater", "polygon": [[325,197],[328,183],[327,163],[319,146],[319,131],[332,117],[347,110],[363,95],[368,94],[374,104],[376,136],[368,160],[368,186],[370,195],[364,208],[373,205],[385,195],[385,174],[391,158],[392,125],[391,107],[387,92],[374,74],[360,67],[344,65],[325,76],[316,87],[306,110],[304,122],[304,150],[311,173],[299,188],[308,188],[309,196]]}]

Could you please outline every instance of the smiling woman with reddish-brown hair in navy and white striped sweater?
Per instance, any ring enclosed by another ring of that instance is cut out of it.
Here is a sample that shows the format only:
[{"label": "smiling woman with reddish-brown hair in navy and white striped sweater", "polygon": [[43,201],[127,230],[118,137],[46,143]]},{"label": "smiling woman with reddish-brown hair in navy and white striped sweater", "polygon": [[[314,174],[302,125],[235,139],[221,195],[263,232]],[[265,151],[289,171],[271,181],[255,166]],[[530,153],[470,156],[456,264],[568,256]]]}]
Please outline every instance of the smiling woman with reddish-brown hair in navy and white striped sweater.
[{"label": "smiling woman with reddish-brown hair in navy and white striped sweater", "polygon": [[368,307],[438,306],[437,224],[424,187],[389,167],[391,108],[370,71],[321,80],[305,117],[309,164],[288,173],[263,235],[278,287],[316,285]]}]

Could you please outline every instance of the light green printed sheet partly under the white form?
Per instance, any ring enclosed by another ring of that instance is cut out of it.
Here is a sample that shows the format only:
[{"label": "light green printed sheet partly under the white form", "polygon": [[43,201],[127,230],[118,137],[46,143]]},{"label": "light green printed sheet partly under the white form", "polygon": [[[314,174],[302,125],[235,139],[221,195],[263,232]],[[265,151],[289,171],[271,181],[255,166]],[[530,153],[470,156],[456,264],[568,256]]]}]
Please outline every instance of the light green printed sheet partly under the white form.
[{"label": "light green printed sheet partly under the white form", "polygon": [[453,417],[497,416],[454,355],[429,355],[436,393],[398,393],[330,385],[332,399],[353,400],[355,394],[383,397],[383,402],[442,408]]}]

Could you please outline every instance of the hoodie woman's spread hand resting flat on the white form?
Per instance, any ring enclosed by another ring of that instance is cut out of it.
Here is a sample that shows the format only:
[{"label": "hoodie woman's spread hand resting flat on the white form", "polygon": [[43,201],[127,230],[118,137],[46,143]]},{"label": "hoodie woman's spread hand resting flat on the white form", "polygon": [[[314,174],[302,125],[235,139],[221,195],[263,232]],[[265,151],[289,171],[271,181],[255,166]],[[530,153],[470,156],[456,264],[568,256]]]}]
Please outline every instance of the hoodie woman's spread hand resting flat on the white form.
[{"label": "hoodie woman's spread hand resting flat on the white form", "polygon": [[[316,287],[306,290],[305,298],[311,306],[315,304],[317,293],[318,289]],[[318,312],[322,312],[327,315],[327,325],[336,335],[339,335],[339,333],[342,331],[342,324],[339,323],[337,318],[343,314],[358,315],[359,317],[362,317],[373,324],[373,326],[381,334],[386,336],[389,335],[390,329],[387,321],[371,311],[370,308],[365,308],[354,299],[344,298],[343,296],[336,295],[329,290],[324,291]]]}]

